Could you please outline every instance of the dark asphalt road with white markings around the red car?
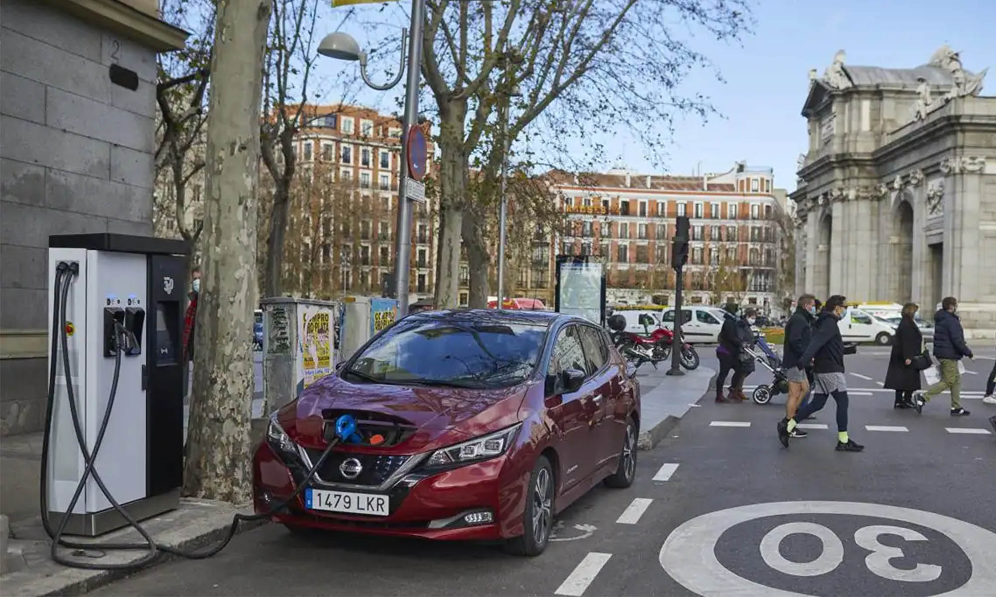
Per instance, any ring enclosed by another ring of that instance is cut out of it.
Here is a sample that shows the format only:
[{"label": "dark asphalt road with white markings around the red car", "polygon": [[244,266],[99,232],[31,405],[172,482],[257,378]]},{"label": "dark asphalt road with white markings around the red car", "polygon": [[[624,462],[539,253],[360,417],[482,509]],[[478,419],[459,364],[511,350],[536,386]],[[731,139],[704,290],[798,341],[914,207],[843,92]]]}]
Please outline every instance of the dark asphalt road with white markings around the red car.
[{"label": "dark asphalt road with white markings around the red car", "polygon": [[[701,352],[714,367],[712,350]],[[640,453],[631,488],[582,498],[537,558],[267,525],[211,559],[169,562],[98,594],[992,594],[996,435],[986,419],[996,407],[978,398],[994,354],[968,363],[973,413],[959,419],[946,400],[921,416],[892,410],[877,383],[886,355],[848,357],[851,434],[864,453],[834,451],[833,401],[808,422],[829,428],[786,450],[775,436],[782,397],[757,406],[707,396]],[[769,377],[759,370],[747,383]]]}]

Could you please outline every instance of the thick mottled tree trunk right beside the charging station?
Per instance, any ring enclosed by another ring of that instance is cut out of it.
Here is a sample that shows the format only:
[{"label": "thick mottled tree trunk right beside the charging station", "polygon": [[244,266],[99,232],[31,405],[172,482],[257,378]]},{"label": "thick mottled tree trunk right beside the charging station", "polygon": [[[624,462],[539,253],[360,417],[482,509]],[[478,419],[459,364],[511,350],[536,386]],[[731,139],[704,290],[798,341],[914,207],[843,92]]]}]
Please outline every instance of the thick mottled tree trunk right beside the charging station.
[{"label": "thick mottled tree trunk right beside the charging station", "polygon": [[256,184],[271,0],[219,0],[207,127],[204,262],[183,493],[249,497]]}]

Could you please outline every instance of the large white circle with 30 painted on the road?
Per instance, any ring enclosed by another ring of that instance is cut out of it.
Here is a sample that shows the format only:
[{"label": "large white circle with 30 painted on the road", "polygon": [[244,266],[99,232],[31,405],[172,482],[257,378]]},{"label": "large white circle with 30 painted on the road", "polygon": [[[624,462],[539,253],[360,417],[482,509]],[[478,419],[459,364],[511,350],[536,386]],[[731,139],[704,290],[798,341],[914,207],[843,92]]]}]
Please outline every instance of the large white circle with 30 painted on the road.
[{"label": "large white circle with 30 painted on the road", "polygon": [[[804,519],[814,514],[869,516],[925,526],[954,541],[971,564],[968,580],[945,595],[967,597],[969,595],[990,594],[992,587],[996,586],[996,566],[988,563],[992,561],[992,546],[996,544],[996,533],[934,512],[856,501],[777,501],[753,503],[709,512],[687,520],[672,530],[667,539],[664,540],[657,559],[660,566],[671,578],[689,591],[699,595],[800,596],[801,593],[769,587],[739,576],[726,568],[716,556],[716,552],[719,551],[716,549],[717,544],[728,529],[743,522],[774,516],[784,517],[786,514],[798,515]],[[894,548],[877,542],[873,535],[883,532],[894,534],[894,527],[889,527],[886,531],[885,527],[872,526],[868,527],[868,530],[863,528],[855,533],[855,542],[871,551],[870,557],[865,557],[865,554],[861,556],[865,559],[866,567],[872,573],[889,580],[924,580],[923,578],[909,578],[909,573],[912,570],[899,570],[888,565],[889,559],[904,556],[901,552],[898,555],[892,555],[895,552]],[[908,532],[907,535],[909,535]],[[904,538],[909,540],[908,536]],[[871,539],[875,540],[872,542]],[[919,540],[919,535],[914,540]],[[771,539],[769,542],[772,542]],[[740,545],[738,548],[749,549],[750,547]],[[770,555],[772,554],[769,552]],[[831,555],[834,554],[831,553]],[[852,556],[846,555],[845,557]],[[861,558],[857,561],[861,561]],[[929,572],[924,570],[923,566],[917,566],[913,570],[917,569],[921,570],[922,573]],[[855,591],[857,593],[874,592],[870,585],[863,587],[861,584],[855,586]]]}]

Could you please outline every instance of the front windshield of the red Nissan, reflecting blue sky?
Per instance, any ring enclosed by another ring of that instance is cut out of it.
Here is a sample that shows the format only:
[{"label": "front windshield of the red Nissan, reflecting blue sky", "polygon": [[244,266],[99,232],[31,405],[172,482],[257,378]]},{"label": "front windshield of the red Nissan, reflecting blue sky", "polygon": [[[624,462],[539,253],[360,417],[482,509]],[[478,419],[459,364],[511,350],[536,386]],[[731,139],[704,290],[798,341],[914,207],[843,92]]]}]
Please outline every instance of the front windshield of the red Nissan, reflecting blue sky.
[{"label": "front windshield of the red Nissan, reflecting blue sky", "polygon": [[408,317],[353,361],[354,380],[466,388],[508,387],[536,368],[545,325]]}]

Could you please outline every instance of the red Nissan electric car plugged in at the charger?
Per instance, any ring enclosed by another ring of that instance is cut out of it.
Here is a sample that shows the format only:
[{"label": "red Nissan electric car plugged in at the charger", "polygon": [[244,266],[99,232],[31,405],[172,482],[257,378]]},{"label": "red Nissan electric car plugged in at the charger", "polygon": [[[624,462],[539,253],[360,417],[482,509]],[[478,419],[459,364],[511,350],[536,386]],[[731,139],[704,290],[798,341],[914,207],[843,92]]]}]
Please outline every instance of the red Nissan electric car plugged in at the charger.
[{"label": "red Nissan electric car plugged in at the charger", "polygon": [[536,555],[554,516],[636,468],[639,385],[604,329],[555,312],[411,314],[274,414],[253,459],[257,512],[308,527],[504,539]]}]

